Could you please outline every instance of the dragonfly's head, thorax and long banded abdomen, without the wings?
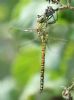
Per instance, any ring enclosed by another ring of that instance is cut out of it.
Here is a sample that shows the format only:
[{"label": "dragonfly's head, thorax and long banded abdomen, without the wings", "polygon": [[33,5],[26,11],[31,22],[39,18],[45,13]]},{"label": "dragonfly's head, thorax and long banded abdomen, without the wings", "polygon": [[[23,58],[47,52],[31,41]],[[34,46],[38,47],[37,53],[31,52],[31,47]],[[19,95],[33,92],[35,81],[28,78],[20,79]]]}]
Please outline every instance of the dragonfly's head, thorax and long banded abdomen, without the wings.
[{"label": "dragonfly's head, thorax and long banded abdomen, without the wings", "polygon": [[[58,9],[53,9],[51,6],[47,7],[45,10],[44,15],[38,15],[37,20],[37,34],[42,43],[42,61],[41,61],[41,75],[40,75],[40,93],[43,91],[44,87],[44,70],[45,70],[45,51],[46,51],[46,44],[48,41],[48,32],[46,28],[49,24],[54,24],[57,21],[57,18],[54,18],[54,13],[58,11]],[[52,21],[50,19],[53,18]]]}]

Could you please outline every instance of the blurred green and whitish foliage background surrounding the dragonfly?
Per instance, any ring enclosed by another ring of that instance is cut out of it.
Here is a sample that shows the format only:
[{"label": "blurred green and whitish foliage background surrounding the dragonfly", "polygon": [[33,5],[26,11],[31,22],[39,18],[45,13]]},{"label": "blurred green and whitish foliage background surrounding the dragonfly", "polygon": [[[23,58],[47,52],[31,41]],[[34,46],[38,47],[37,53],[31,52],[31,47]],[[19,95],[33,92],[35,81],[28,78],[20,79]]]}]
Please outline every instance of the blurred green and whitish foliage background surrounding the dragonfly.
[{"label": "blurred green and whitish foliage background surrounding the dragonfly", "polygon": [[[7,91],[3,96],[0,94],[0,100],[37,99],[41,43],[35,32],[24,29],[36,27],[37,14],[46,3],[45,0],[0,0],[0,93]],[[74,12],[60,11],[57,23],[50,25],[48,31],[45,89],[40,100],[63,100],[61,86],[69,84],[74,76]]]}]

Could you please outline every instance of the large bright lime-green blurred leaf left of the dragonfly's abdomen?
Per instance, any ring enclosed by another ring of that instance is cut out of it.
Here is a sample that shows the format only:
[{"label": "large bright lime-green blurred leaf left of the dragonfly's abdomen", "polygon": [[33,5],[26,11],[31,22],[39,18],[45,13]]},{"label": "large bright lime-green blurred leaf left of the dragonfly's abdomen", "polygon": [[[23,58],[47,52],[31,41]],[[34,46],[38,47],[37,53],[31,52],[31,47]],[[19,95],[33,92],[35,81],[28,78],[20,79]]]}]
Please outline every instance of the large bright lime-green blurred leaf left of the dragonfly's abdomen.
[{"label": "large bright lime-green blurred leaf left of the dragonfly's abdomen", "polygon": [[40,70],[40,49],[34,45],[27,46],[17,54],[12,64],[12,75],[21,87]]}]

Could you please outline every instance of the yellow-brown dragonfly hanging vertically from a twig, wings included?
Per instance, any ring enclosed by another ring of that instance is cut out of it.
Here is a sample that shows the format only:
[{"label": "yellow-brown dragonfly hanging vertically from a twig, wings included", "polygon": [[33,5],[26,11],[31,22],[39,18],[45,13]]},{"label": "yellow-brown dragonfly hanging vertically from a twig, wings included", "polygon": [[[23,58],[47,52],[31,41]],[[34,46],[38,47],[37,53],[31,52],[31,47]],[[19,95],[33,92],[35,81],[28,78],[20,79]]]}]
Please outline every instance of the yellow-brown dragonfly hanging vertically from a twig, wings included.
[{"label": "yellow-brown dragonfly hanging vertically from a twig, wings included", "polygon": [[[59,0],[58,0],[59,1]],[[54,14],[58,11],[57,9],[53,9],[51,6],[48,6],[45,9],[43,15],[37,16],[37,25],[36,29],[24,29],[24,32],[36,32],[42,45],[42,57],[41,57],[41,72],[40,72],[40,93],[42,93],[44,88],[44,72],[45,72],[45,52],[46,52],[46,45],[48,42],[48,33],[49,33],[49,25],[56,23],[58,20],[58,15],[55,18]],[[60,40],[67,42],[63,38],[55,38],[49,37],[52,40]]]}]

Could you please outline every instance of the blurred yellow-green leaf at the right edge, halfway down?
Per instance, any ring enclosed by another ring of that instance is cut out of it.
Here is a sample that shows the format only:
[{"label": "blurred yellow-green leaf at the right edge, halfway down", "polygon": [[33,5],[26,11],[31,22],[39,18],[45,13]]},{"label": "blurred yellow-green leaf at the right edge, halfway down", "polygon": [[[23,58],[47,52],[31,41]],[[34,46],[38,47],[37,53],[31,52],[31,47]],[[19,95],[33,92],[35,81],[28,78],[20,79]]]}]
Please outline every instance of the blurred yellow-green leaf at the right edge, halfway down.
[{"label": "blurred yellow-green leaf at the right edge, halfway down", "polygon": [[[73,43],[73,41],[69,41],[66,48],[64,49],[64,55],[61,60],[60,70],[61,70],[61,73],[63,73],[63,75],[68,74],[68,77],[70,77],[71,69],[74,66],[74,61],[73,61],[73,65],[72,65],[73,59],[74,59],[74,43]],[[73,71],[73,73],[74,73],[74,71]]]}]

